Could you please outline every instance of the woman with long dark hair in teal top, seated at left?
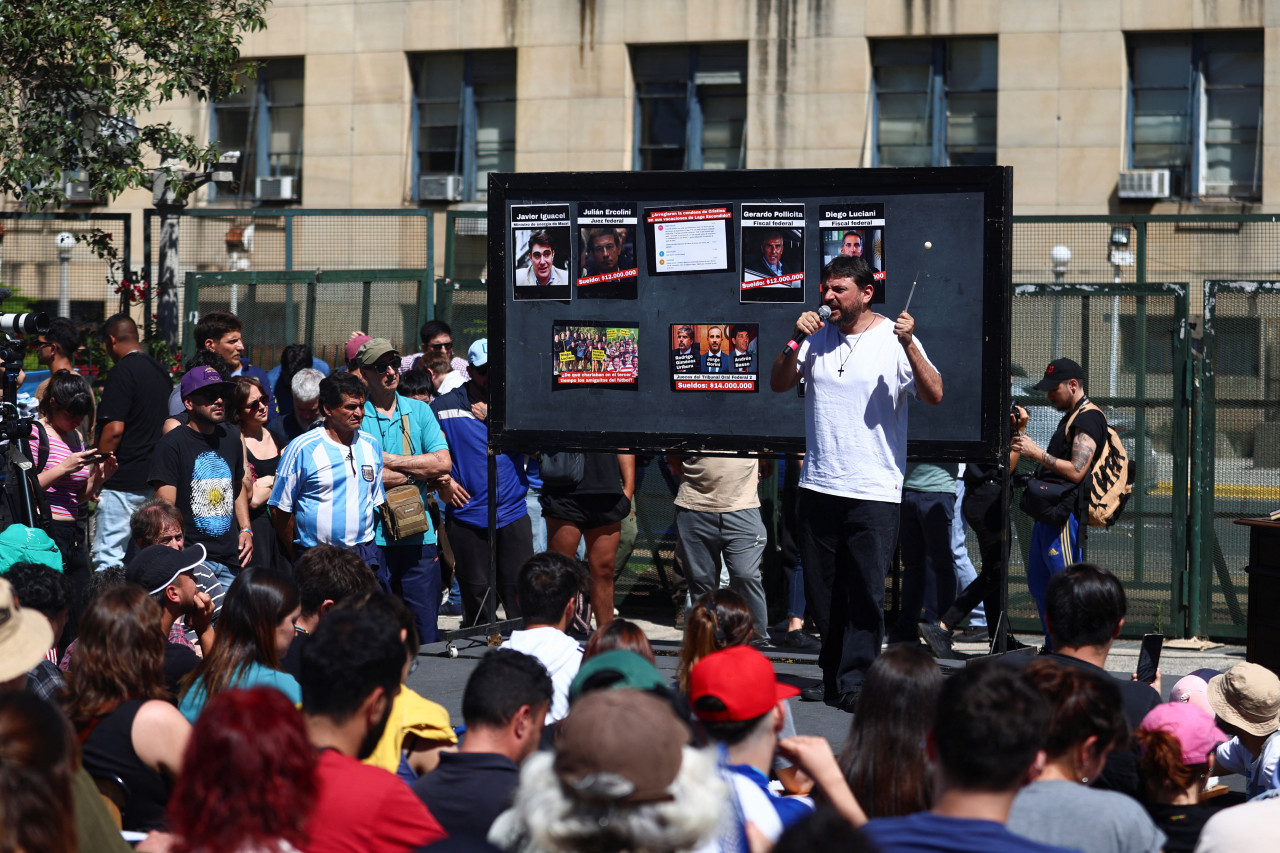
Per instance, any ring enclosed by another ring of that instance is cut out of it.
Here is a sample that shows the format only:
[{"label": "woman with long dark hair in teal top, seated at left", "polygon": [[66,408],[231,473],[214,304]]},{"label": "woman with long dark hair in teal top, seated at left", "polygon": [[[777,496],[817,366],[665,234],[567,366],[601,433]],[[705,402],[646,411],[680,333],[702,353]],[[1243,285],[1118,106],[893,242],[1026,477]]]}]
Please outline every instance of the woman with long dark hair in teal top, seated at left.
[{"label": "woman with long dark hair in teal top, seated at left", "polygon": [[183,716],[195,722],[210,697],[230,688],[270,686],[294,704],[301,702],[298,683],[280,671],[302,612],[300,602],[288,578],[252,566],[241,571],[223,599],[214,647],[182,680]]}]

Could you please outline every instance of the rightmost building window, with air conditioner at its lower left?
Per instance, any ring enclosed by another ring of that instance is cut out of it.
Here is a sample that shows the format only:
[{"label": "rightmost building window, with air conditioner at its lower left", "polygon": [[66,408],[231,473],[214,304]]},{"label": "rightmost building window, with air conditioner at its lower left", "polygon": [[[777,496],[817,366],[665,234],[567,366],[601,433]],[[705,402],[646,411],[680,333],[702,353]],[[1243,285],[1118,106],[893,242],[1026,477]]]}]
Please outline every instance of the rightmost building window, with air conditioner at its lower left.
[{"label": "rightmost building window, with air conditioner at its lower left", "polygon": [[1129,164],[1174,196],[1262,195],[1262,33],[1129,36]]}]

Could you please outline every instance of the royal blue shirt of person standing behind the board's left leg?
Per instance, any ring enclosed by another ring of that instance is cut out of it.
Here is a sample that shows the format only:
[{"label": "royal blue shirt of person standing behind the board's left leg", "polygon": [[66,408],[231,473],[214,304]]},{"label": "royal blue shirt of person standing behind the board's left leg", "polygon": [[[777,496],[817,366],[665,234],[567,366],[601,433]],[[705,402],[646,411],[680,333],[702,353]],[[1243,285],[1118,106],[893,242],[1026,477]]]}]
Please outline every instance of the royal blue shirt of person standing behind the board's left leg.
[{"label": "royal blue shirt of person standing behind the board's left leg", "polygon": [[[449,441],[453,459],[452,476],[471,496],[460,508],[445,506],[448,517],[474,528],[489,526],[489,425],[471,414],[471,397],[466,383],[431,403],[431,411],[440,419],[440,429]],[[498,526],[503,528],[529,515],[525,496],[524,455],[513,451],[498,456]]]}]

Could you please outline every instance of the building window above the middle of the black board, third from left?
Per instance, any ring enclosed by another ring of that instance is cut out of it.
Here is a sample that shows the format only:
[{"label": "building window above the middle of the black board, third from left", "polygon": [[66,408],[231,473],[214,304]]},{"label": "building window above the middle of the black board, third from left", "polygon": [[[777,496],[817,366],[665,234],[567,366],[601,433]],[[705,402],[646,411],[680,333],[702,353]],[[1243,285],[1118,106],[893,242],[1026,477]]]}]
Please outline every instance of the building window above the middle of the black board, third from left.
[{"label": "building window above the middle of the black board, third from left", "polygon": [[746,45],[631,49],[635,169],[746,165]]}]

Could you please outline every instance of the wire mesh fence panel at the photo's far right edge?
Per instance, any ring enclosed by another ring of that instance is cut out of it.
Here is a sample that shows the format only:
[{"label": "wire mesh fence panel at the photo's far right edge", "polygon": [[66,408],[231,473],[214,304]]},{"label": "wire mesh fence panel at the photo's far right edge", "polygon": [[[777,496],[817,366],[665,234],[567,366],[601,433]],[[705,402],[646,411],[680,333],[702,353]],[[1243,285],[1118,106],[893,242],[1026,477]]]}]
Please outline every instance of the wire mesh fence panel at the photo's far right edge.
[{"label": "wire mesh fence panel at the photo's far right edge", "polygon": [[1203,620],[1244,637],[1248,532],[1235,519],[1280,508],[1280,283],[1207,282],[1201,512]]}]

